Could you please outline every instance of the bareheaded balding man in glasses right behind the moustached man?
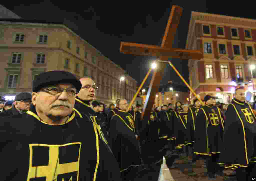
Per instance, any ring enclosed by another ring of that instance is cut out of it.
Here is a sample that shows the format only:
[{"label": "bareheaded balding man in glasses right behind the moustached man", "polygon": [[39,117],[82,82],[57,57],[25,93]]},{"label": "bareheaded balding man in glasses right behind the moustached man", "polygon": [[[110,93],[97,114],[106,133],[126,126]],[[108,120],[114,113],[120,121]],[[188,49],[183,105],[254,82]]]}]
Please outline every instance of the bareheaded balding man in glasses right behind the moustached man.
[{"label": "bareheaded balding man in glasses right behind the moustached man", "polygon": [[82,84],[82,88],[76,95],[76,102],[74,106],[76,116],[89,117],[90,120],[97,125],[100,139],[108,144],[105,138],[106,130],[104,130],[104,128],[101,128],[99,119],[95,111],[90,106],[90,102],[94,99],[98,87],[95,85],[95,82],[90,77],[82,77],[80,78],[80,82]]}]

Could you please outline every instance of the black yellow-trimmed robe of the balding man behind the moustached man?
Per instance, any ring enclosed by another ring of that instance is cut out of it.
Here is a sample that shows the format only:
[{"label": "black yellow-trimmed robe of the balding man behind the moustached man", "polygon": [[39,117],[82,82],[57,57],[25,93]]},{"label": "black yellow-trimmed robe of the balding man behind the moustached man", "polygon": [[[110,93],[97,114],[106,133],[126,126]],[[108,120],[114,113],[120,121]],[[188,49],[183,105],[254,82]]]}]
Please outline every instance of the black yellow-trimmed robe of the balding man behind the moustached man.
[{"label": "black yellow-trimmed robe of the balding man behind the moustached man", "polygon": [[[76,97],[76,102],[74,105],[74,110],[76,111],[77,118],[86,117],[86,120],[94,122],[98,128],[99,137],[108,144],[107,133],[104,126],[101,127],[100,120],[97,117],[96,112],[91,108],[90,101],[84,101]],[[89,119],[87,119],[89,118]]]}]

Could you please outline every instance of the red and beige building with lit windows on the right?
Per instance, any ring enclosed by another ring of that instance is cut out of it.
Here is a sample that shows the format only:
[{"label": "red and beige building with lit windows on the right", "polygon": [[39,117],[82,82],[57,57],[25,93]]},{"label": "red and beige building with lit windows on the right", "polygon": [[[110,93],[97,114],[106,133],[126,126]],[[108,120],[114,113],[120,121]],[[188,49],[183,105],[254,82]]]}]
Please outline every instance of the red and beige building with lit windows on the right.
[{"label": "red and beige building with lit windows on the right", "polygon": [[238,85],[254,92],[256,20],[192,12],[186,49],[204,53],[201,60],[188,61],[190,86],[201,99],[211,94],[230,103]]}]

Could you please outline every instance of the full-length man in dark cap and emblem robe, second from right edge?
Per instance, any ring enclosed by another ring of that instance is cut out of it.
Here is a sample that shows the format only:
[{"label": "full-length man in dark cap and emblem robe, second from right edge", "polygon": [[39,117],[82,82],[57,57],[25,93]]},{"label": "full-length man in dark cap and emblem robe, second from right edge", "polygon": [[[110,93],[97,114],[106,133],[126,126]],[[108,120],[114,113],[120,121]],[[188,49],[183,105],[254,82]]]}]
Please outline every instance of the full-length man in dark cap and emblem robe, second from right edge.
[{"label": "full-length man in dark cap and emblem robe, second from right edge", "polygon": [[222,148],[223,122],[220,110],[214,106],[214,97],[205,96],[205,106],[201,107],[196,117],[195,154],[206,156],[206,167],[209,178],[215,178],[219,171],[217,164]]}]

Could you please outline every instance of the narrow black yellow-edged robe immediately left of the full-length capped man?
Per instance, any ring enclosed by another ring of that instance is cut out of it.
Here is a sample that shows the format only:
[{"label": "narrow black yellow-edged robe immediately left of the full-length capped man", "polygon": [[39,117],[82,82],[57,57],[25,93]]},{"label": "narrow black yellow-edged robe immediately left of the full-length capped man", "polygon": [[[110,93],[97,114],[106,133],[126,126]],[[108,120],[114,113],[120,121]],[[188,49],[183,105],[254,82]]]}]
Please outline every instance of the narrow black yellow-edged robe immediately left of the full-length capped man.
[{"label": "narrow black yellow-edged robe immediately left of the full-length capped man", "polygon": [[195,131],[196,131],[196,116],[199,108],[192,107],[188,109],[188,123],[187,123],[187,141],[188,143],[195,142]]}]

